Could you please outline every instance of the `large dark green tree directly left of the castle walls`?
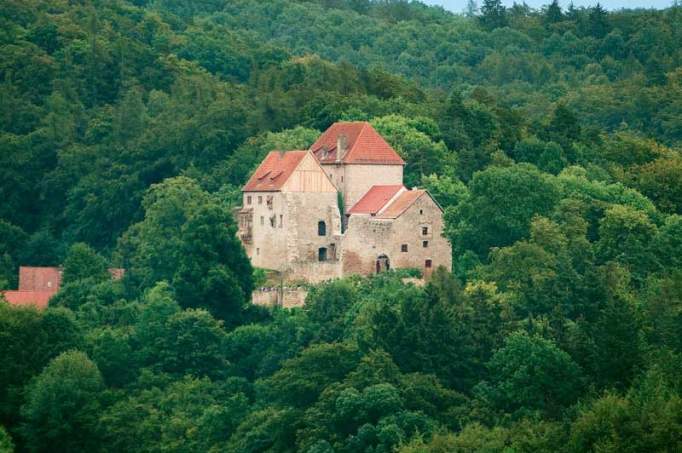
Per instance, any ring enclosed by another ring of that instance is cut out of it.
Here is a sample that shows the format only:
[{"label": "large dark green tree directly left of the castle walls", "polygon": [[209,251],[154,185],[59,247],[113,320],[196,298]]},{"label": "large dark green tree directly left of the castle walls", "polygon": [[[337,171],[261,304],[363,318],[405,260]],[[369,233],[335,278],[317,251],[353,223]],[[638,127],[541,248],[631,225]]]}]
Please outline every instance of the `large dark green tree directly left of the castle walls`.
[{"label": "large dark green tree directly left of the castle walls", "polygon": [[128,284],[140,291],[165,280],[182,306],[238,323],[253,271],[225,205],[186,177],[152,186],[143,205],[144,220],[119,244]]}]

